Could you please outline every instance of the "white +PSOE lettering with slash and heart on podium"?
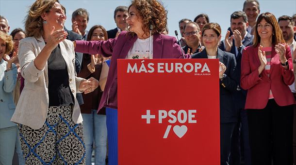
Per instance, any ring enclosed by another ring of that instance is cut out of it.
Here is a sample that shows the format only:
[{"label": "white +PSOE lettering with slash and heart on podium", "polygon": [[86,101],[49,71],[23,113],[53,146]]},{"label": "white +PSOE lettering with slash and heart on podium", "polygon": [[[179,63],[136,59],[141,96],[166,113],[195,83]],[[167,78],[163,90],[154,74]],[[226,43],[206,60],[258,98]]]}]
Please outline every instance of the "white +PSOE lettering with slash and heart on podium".
[{"label": "white +PSOE lettering with slash and heart on podium", "polygon": [[166,127],[163,138],[168,137],[168,134],[172,128],[171,124],[176,124],[178,122],[181,126],[173,126],[173,132],[179,138],[182,138],[188,131],[188,128],[185,124],[197,123],[197,120],[195,120],[196,113],[197,110],[179,110],[178,112],[176,110],[158,110],[157,114],[151,114],[150,110],[146,110],[146,114],[142,115],[141,119],[146,119],[146,124],[150,124],[150,120],[152,119],[158,120],[158,124],[163,124],[164,120],[166,119],[165,122],[167,121],[169,125]]}]

